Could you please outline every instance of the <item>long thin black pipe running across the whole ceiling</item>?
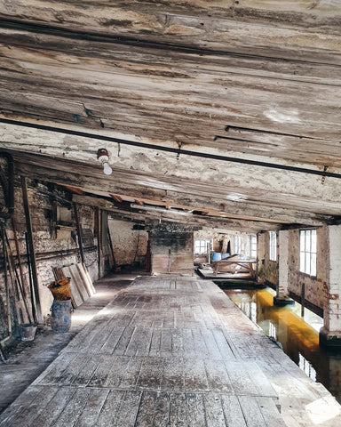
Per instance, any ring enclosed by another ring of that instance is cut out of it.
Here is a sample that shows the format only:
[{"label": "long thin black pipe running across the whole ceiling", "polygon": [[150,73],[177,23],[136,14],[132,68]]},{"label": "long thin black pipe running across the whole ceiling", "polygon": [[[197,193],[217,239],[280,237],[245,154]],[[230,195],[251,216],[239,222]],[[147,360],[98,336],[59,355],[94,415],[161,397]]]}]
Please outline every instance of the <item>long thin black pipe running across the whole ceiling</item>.
[{"label": "long thin black pipe running across the whole ceiling", "polygon": [[99,140],[99,141],[107,141],[107,142],[116,142],[123,145],[130,145],[132,147],[140,147],[142,149],[155,149],[158,151],[164,151],[168,153],[174,153],[176,155],[181,154],[182,156],[191,156],[191,157],[202,157],[202,158],[210,158],[211,160],[219,160],[224,162],[231,162],[231,163],[239,163],[242,165],[254,165],[254,166],[262,166],[262,167],[268,167],[271,169],[277,169],[277,170],[283,170],[283,171],[290,171],[290,172],[297,172],[297,173],[309,173],[312,175],[319,175],[329,178],[338,178],[341,179],[341,173],[332,173],[332,172],[326,172],[326,171],[314,171],[313,169],[308,169],[306,167],[297,167],[297,166],[289,166],[289,165],[278,165],[275,163],[268,163],[268,162],[259,162],[258,160],[250,160],[247,158],[238,158],[238,157],[228,157],[228,156],[218,156],[216,154],[209,154],[209,153],[202,153],[198,151],[192,151],[189,149],[173,149],[171,147],[160,147],[155,144],[148,144],[146,142],[139,142],[139,141],[129,141],[129,140],[122,140],[119,138],[114,138],[111,136],[105,136],[105,135],[98,135],[97,133],[87,133],[87,132],[80,132],[80,131],[74,131],[71,129],[62,129],[59,127],[54,126],[48,126],[48,125],[38,125],[35,123],[28,123],[28,122],[19,122],[16,120],[10,120],[7,118],[0,118],[0,123],[4,123],[6,125],[17,125],[22,127],[28,127],[32,129],[38,129],[42,131],[48,131],[48,132],[54,132],[54,133],[63,133],[67,135],[73,135],[73,136],[79,136],[82,138],[91,138],[92,140]]}]

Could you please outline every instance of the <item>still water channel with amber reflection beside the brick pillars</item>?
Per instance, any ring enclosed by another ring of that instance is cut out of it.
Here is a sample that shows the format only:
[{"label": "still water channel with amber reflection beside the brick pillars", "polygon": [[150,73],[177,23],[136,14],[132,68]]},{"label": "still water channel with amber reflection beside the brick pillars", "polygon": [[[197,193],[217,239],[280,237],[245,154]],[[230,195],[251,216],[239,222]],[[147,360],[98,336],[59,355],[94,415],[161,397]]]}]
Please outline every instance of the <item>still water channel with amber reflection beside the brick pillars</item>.
[{"label": "still water channel with amber reflection beside the brick pillars", "polygon": [[258,290],[225,290],[226,294],[263,331],[277,342],[283,351],[313,381],[322,383],[341,403],[341,354],[319,346],[319,330],[323,319],[297,302],[276,307],[271,288]]}]

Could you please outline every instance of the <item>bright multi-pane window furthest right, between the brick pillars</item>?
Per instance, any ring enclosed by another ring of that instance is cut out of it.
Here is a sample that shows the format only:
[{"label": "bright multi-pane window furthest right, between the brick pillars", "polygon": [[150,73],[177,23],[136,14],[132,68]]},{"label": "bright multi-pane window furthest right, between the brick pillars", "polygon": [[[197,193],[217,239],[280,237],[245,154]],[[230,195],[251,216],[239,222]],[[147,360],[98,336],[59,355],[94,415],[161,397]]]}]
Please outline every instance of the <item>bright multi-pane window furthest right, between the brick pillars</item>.
[{"label": "bright multi-pane window furthest right, between the brick pillars", "polygon": [[299,270],[316,276],[316,230],[299,230]]}]

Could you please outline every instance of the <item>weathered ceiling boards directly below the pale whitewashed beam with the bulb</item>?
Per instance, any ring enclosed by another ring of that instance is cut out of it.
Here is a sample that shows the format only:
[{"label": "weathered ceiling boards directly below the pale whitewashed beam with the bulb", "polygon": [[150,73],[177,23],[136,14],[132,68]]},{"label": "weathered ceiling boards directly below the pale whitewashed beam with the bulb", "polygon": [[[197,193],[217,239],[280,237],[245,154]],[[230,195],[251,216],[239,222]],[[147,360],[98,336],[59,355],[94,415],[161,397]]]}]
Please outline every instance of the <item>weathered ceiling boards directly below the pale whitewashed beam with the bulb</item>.
[{"label": "weathered ceiling boards directly below the pale whitewashed beam with the bulb", "polygon": [[[211,186],[207,183],[198,183],[189,179],[177,180],[174,178],[164,178],[163,181],[155,180],[146,173],[137,171],[120,170],[114,168],[112,177],[103,175],[100,167],[92,165],[80,165],[76,162],[59,160],[44,156],[28,156],[20,153],[14,154],[16,169],[18,173],[23,173],[30,177],[42,181],[52,181],[66,185],[79,186],[83,189],[101,189],[107,193],[127,194],[134,198],[150,198],[166,202],[169,205],[182,204],[200,210],[217,209],[227,214],[245,215],[267,218],[282,222],[299,222],[306,224],[321,224],[321,221],[330,221],[328,216],[323,215],[329,212],[340,213],[338,203],[324,203],[324,210],[320,203],[314,198],[292,197],[291,203],[289,195],[269,194],[269,191],[250,192],[249,199],[240,200],[235,193],[234,186]],[[238,197],[240,197],[239,195]],[[229,198],[231,197],[231,198]],[[283,206],[286,208],[283,209]],[[313,213],[313,208],[318,213]]]}]

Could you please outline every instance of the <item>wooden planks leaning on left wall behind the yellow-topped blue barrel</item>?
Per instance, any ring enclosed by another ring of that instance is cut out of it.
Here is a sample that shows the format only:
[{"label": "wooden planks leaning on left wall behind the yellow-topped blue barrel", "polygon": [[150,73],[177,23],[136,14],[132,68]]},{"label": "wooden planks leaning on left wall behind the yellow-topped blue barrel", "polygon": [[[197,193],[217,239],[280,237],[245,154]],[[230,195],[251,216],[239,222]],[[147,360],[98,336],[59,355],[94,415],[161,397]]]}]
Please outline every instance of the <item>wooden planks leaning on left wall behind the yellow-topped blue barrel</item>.
[{"label": "wooden planks leaning on left wall behind the yellow-topped blue barrel", "polygon": [[71,301],[74,308],[83,304],[95,294],[95,288],[92,285],[91,277],[88,270],[82,263],[68,265],[63,268],[54,268],[54,276],[56,280],[60,278],[70,278]]}]

